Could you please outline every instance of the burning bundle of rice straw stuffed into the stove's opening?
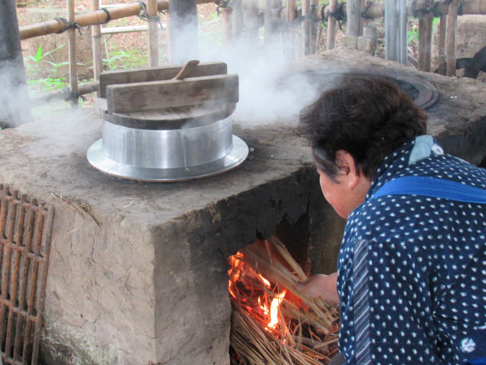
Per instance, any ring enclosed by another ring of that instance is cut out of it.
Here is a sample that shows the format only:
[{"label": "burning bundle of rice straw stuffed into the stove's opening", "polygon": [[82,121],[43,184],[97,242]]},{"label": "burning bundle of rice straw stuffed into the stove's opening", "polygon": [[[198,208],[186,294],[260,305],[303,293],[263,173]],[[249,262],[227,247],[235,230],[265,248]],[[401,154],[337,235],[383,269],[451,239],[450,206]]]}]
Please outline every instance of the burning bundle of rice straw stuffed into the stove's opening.
[{"label": "burning bundle of rice straw stuffed into the stove's opening", "polygon": [[327,364],[337,349],[339,313],[295,289],[307,276],[285,246],[276,238],[257,241],[230,264],[231,364]]}]

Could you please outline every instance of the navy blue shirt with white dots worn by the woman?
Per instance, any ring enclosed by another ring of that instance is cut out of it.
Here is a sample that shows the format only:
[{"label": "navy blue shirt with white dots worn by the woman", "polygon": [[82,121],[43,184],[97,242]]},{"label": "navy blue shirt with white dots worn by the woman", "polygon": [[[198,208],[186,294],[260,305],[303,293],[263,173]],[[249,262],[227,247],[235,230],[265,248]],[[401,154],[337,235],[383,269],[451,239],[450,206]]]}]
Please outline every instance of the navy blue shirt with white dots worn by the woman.
[{"label": "navy blue shirt with white dots worn by the woman", "polygon": [[486,170],[420,136],[387,156],[348,217],[338,257],[347,364],[466,364],[486,357],[486,204],[419,195],[370,199],[427,176],[486,189]]}]

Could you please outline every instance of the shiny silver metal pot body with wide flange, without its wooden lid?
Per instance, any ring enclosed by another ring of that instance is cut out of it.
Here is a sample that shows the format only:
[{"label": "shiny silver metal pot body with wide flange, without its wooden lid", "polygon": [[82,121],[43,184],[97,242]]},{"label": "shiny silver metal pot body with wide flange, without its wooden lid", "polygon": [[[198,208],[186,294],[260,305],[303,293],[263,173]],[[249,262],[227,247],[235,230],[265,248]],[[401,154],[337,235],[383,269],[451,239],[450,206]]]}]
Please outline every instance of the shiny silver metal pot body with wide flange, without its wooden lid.
[{"label": "shiny silver metal pot body with wide flange, without its wooden lid", "polygon": [[103,138],[87,151],[95,168],[141,181],[182,181],[225,172],[243,163],[248,146],[232,134],[231,118],[206,126],[149,130],[103,121]]}]

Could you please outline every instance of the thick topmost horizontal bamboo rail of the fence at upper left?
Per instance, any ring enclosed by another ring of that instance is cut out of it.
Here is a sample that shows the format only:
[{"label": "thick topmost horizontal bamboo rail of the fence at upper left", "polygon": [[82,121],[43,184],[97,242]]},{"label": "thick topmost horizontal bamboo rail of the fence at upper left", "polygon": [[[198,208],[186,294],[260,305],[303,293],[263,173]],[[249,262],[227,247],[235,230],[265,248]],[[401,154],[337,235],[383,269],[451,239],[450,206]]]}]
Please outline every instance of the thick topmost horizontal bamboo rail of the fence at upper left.
[{"label": "thick topmost horizontal bamboo rail of the fence at upper left", "polygon": [[[198,4],[208,4],[210,2],[214,2],[214,0],[197,0]],[[141,5],[138,2],[135,2],[133,4],[119,5],[110,8],[107,11],[110,14],[110,19],[115,20],[138,15],[140,10],[142,10]],[[169,10],[169,1],[157,0],[157,10]],[[107,15],[104,10],[97,10],[95,12],[78,14],[75,17],[75,21],[81,27],[87,27],[89,25],[104,24],[106,17]],[[45,36],[47,34],[59,32],[65,28],[66,24],[57,20],[48,20],[40,23],[25,25],[23,27],[19,27],[20,39]]]}]

